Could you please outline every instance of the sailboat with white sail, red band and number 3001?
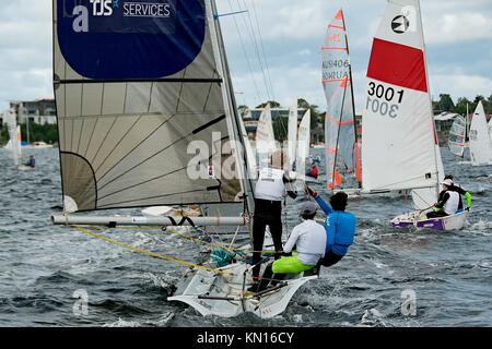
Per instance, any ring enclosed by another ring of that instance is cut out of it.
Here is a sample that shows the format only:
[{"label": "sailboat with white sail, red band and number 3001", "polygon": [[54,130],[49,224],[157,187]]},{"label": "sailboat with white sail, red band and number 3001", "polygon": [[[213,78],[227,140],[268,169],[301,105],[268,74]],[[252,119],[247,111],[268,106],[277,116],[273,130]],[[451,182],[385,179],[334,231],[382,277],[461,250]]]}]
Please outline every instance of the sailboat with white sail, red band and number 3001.
[{"label": "sailboat with white sail, red band and number 3001", "polygon": [[437,201],[444,169],[424,52],[419,1],[388,1],[367,69],[363,188],[412,191],[415,210],[394,218],[394,227],[460,229],[466,210],[443,218],[425,217]]}]

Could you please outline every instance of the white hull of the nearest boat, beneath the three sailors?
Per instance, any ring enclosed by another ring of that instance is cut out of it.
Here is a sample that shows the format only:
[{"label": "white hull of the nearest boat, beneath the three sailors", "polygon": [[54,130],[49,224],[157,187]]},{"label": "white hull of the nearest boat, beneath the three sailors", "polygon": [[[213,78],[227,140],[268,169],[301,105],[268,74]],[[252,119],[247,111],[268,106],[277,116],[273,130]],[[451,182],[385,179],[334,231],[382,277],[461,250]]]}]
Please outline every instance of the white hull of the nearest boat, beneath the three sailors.
[{"label": "white hull of the nearest boat, beneath the three sailors", "polygon": [[255,296],[243,291],[250,286],[248,267],[243,263],[231,264],[219,269],[222,274],[191,269],[167,300],[184,302],[203,316],[233,317],[250,312],[261,318],[269,318],[285,310],[301,286],[317,278],[314,275],[288,279],[279,284],[278,288]]}]

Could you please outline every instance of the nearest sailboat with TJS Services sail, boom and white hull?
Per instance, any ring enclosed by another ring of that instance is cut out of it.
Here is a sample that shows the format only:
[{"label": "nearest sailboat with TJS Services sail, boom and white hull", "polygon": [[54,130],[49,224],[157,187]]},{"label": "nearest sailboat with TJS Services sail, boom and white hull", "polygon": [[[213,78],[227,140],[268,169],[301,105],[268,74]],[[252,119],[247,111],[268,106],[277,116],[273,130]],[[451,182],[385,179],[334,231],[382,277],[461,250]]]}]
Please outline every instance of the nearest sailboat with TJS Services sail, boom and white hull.
[{"label": "nearest sailboat with TJS Services sail, boom and white hull", "polygon": [[[63,214],[52,215],[54,224],[250,225],[253,186],[246,155],[239,152],[244,136],[215,4],[192,0],[163,7],[145,17],[125,15],[129,8],[54,1],[63,193]],[[171,216],[90,215],[188,204],[241,212],[180,221]],[[244,261],[188,266],[168,300],[203,315],[274,316],[304,282],[317,277],[301,275],[251,294],[246,291],[250,265]]]}]

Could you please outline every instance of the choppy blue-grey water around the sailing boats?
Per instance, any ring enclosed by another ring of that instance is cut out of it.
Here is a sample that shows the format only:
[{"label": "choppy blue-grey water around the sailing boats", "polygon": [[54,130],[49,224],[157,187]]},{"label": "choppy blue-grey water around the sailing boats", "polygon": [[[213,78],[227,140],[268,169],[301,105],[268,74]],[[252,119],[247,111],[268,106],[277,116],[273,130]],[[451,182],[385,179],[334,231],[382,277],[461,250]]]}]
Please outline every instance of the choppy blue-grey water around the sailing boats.
[{"label": "choppy blue-grey water around the sailing boats", "polygon": [[[33,152],[33,172],[14,171],[0,152],[0,326],[492,326],[492,167],[472,168],[445,148],[446,172],[473,197],[464,230],[395,230],[389,219],[409,209],[408,200],[353,200],[349,210],[359,225],[349,254],[272,320],[202,317],[166,301],[181,266],[52,226],[49,215],[61,205],[58,151]],[[300,202],[289,202],[291,228]],[[165,255],[199,256],[157,231],[112,237]],[[75,290],[87,292],[87,315],[73,312]],[[414,292],[415,315],[402,314],[405,292]]]}]

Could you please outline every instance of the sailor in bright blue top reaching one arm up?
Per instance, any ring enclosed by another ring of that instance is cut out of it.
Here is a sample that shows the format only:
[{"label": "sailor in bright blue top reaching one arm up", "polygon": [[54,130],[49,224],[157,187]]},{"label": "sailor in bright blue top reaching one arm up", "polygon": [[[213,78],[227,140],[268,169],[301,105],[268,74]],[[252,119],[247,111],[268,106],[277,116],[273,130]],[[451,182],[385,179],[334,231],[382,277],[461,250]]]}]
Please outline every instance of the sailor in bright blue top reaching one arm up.
[{"label": "sailor in bright blue top reaching one arm up", "polygon": [[355,216],[345,212],[348,195],[344,192],[331,195],[331,205],[329,205],[309,186],[306,185],[305,191],[315,198],[326,214],[325,230],[327,241],[325,256],[320,264],[324,266],[333,265],[347,254],[355,236]]}]

